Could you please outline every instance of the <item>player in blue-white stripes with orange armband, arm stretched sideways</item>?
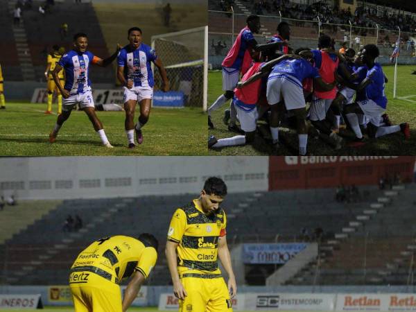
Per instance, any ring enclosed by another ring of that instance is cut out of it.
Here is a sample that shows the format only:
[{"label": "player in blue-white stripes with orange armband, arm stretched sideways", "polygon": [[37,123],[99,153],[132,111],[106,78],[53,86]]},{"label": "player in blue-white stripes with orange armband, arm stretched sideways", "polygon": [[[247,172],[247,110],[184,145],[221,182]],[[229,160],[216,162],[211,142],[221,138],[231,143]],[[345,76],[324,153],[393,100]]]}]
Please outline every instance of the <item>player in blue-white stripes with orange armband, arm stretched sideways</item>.
[{"label": "player in blue-white stripes with orange armband, arm stretched sideways", "polygon": [[[107,148],[113,146],[105,135],[103,124],[95,112],[94,99],[91,92],[91,81],[89,80],[89,64],[97,64],[101,67],[106,67],[116,58],[120,50],[120,45],[117,44],[116,52],[105,60],[96,57],[91,52],[87,51],[88,39],[85,33],[77,33],[73,36],[74,49],[64,54],[55,69],[53,69],[52,76],[55,84],[58,86],[62,97],[62,114],[58,116],[58,120],[49,135],[49,142],[55,142],[58,131],[62,124],[69,118],[73,107],[76,104],[87,114],[89,120],[94,126],[97,134],[100,136],[103,145]],[[62,87],[59,78],[59,72],[65,71],[65,85]]]}]

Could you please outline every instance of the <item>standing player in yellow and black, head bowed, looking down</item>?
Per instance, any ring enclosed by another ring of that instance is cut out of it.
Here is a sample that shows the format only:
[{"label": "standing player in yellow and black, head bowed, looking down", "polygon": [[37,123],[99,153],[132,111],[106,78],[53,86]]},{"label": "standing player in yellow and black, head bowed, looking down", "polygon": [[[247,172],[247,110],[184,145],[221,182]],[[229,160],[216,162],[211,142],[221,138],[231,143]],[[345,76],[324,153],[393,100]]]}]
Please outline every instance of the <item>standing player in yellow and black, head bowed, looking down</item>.
[{"label": "standing player in yellow and black, head bowed, looking down", "polygon": [[[168,230],[166,258],[180,312],[229,312],[236,279],[227,246],[227,218],[220,203],[227,186],[218,177],[205,181],[200,198],[175,211]],[[228,286],[217,256],[227,271]]]}]

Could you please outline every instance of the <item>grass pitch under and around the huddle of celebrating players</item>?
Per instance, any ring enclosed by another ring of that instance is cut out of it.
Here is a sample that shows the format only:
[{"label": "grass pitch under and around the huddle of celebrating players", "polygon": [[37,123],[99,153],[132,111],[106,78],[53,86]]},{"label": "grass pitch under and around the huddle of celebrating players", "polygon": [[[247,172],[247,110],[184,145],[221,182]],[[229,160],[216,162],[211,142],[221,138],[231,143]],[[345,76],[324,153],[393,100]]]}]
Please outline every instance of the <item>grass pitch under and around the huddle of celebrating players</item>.
[{"label": "grass pitch under and around the huddle of celebrating players", "polygon": [[[412,75],[416,66],[399,66],[397,73],[397,99],[393,98],[393,66],[383,67],[388,83],[385,85],[385,93],[388,98],[386,113],[390,116],[393,124],[408,122],[410,124],[410,139],[404,140],[401,132],[386,135],[379,139],[367,139],[365,145],[360,147],[349,147],[345,143],[352,141],[354,135],[350,131],[341,130],[340,135],[344,138],[343,148],[334,150],[321,139],[308,138],[309,155],[416,155],[416,75]],[[211,105],[220,94],[222,89],[221,71],[211,71],[208,76],[208,105]],[[209,134],[215,135],[217,139],[232,137],[236,135],[229,132],[223,123],[223,112],[228,105],[212,114],[215,129],[209,130]],[[263,138],[257,136],[254,144],[249,146],[235,146],[222,148],[220,150],[209,150],[209,155],[297,155],[297,135],[294,131],[279,132],[284,144],[278,151],[272,151],[269,144]]]}]

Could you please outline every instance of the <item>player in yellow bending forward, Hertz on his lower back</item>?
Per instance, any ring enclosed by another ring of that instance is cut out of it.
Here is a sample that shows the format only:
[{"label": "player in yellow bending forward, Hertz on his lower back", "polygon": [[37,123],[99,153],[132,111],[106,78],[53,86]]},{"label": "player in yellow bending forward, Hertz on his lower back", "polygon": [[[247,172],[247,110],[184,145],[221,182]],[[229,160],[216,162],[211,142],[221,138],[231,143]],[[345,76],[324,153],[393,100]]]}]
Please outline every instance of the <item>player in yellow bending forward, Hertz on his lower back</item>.
[{"label": "player in yellow bending forward, Hertz on his lower back", "polygon": [[[157,239],[108,236],[78,254],[69,271],[76,312],[125,312],[157,260]],[[123,300],[119,283],[130,277]]]}]

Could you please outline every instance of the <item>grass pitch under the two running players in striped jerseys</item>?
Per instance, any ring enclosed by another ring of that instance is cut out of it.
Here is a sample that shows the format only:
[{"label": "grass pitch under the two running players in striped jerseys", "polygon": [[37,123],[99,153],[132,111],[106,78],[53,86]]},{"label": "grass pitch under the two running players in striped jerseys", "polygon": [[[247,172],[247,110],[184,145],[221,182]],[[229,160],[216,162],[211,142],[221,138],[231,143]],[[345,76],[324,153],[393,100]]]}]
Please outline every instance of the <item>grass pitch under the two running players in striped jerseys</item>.
[{"label": "grass pitch under the two running players in striped jerseys", "polygon": [[[49,144],[57,116],[45,115],[46,104],[6,103],[0,111],[0,155],[207,155],[207,115],[200,108],[153,108],[143,128],[144,143],[128,149],[124,112],[97,112],[114,148],[105,148],[87,115],[73,111],[57,140]],[[54,104],[53,110],[56,110]],[[135,121],[139,116],[138,109]]]}]

